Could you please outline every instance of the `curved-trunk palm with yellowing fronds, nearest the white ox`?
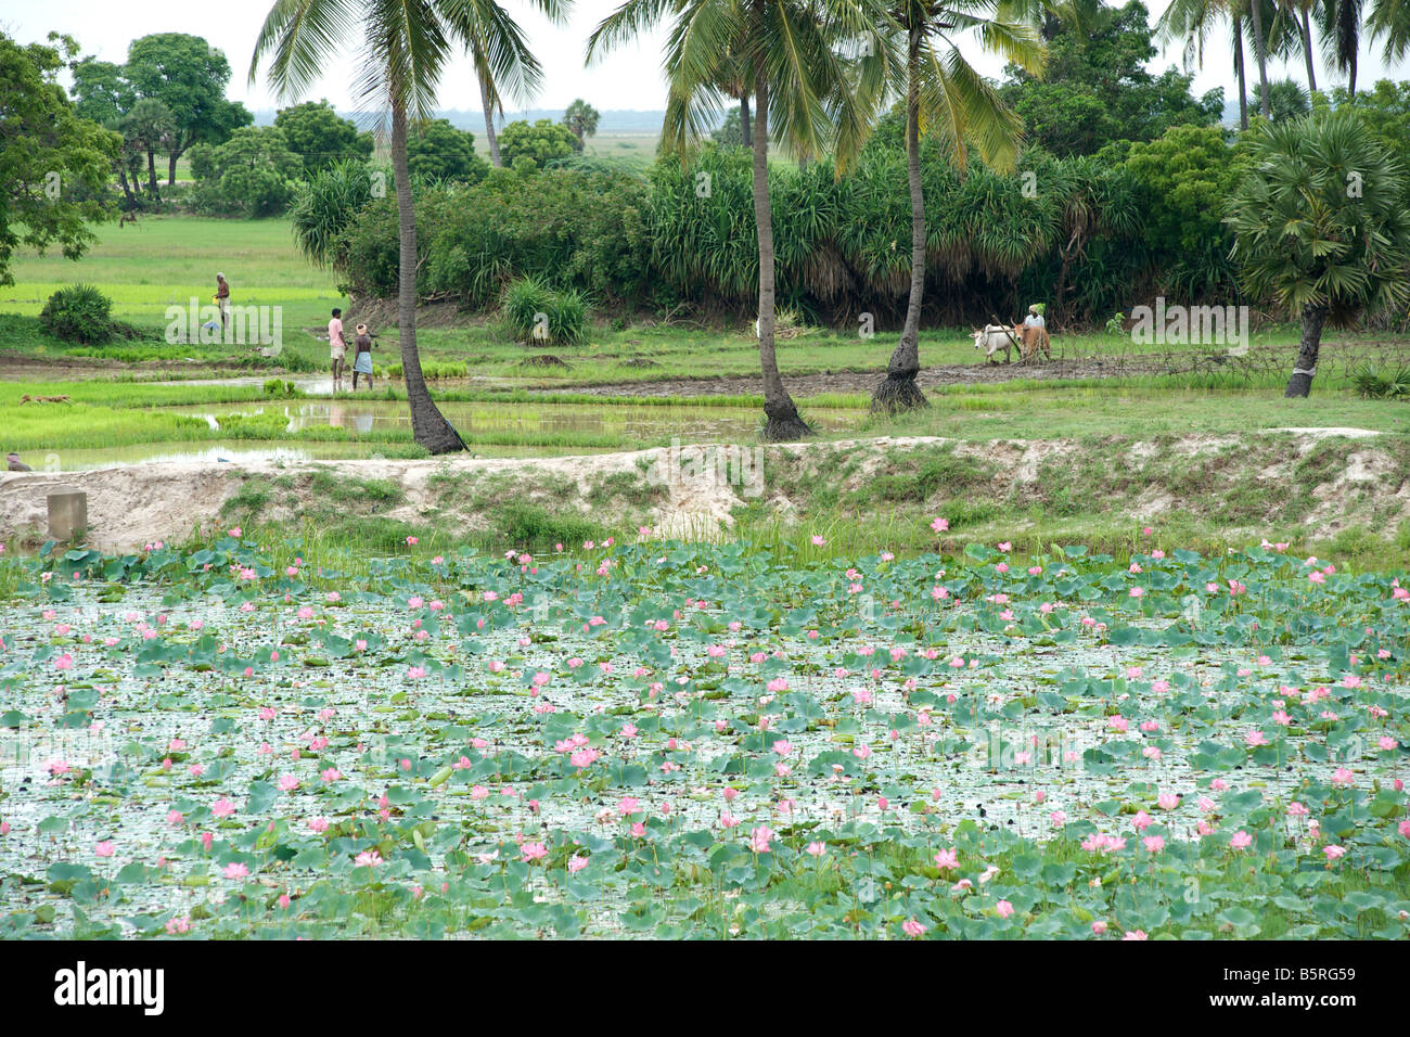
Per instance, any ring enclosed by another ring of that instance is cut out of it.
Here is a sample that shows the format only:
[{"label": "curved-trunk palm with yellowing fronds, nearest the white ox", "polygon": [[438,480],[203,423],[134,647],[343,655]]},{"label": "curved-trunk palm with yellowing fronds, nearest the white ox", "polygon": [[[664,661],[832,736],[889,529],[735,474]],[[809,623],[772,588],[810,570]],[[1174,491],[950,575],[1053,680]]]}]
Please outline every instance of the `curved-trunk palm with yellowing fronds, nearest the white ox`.
[{"label": "curved-trunk palm with yellowing fronds, nearest the white ox", "polygon": [[871,395],[873,411],[908,411],[926,406],[915,384],[921,368],[921,302],[925,296],[925,192],[921,188],[921,121],[940,127],[962,169],[966,141],[974,140],[983,159],[1011,168],[1022,128],[998,92],[964,59],[955,35],[977,31],[984,45],[1031,72],[1041,72],[1045,58],[1035,28],[1019,24],[1003,0],[990,18],[986,0],[900,0],[891,18],[905,45],[905,166],[911,192],[911,295],[905,306],[901,341],[887,364],[885,380]]}]

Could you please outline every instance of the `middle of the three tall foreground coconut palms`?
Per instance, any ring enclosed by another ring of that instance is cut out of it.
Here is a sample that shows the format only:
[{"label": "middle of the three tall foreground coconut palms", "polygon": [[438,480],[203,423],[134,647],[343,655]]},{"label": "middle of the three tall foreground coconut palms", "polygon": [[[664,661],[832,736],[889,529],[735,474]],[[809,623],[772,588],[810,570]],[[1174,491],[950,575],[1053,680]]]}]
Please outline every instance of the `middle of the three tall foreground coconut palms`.
[{"label": "middle of the three tall foreground coconut palms", "polygon": [[626,0],[588,40],[589,62],[602,52],[673,20],[666,44],[668,82],[661,151],[684,152],[719,126],[719,83],[736,59],[754,97],[753,196],[759,244],[759,363],[764,375],[764,439],[812,433],[784,388],[774,351],[774,230],[768,198],[768,134],[801,157],[835,145],[839,162],[866,138],[870,109],[888,69],[885,48],[854,62],[835,44],[846,37],[880,44],[884,11],[869,0]]}]

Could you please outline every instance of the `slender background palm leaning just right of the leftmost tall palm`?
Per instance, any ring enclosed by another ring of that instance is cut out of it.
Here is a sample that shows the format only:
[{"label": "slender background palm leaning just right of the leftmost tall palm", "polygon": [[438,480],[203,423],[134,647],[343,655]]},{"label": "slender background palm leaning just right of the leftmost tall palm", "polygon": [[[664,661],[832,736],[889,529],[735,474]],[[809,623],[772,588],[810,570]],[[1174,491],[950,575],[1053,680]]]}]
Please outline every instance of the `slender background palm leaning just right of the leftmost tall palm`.
[{"label": "slender background palm leaning just right of the leftmost tall palm", "polygon": [[[564,25],[572,0],[529,0],[554,25]],[[495,0],[454,0],[447,3],[448,20],[462,37],[475,66],[479,103],[485,110],[485,142],[489,161],[502,166],[495,114],[505,113],[505,97],[516,104],[527,103],[543,85],[543,66],[533,56],[523,30]]]}]

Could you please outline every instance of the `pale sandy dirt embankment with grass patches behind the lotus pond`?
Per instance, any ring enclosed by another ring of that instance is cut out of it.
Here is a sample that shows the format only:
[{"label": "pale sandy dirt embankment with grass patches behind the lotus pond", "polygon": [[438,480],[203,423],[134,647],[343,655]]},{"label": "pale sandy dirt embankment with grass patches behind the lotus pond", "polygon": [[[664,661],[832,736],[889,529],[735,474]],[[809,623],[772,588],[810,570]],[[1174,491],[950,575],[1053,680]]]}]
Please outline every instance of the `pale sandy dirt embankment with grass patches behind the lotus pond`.
[{"label": "pale sandy dirt embankment with grass patches behind the lotus pond", "polygon": [[180,542],[235,521],[324,516],[454,530],[506,529],[506,509],[571,515],[599,530],[711,536],[740,508],[807,519],[919,518],[963,526],[1183,515],[1227,530],[1324,538],[1410,522],[1410,449],[1361,429],[1160,440],[880,437],[778,447],[695,446],[591,457],[148,463],[75,473],[0,473],[0,542],[47,535],[47,494],[87,494],[89,539],[114,549]]}]

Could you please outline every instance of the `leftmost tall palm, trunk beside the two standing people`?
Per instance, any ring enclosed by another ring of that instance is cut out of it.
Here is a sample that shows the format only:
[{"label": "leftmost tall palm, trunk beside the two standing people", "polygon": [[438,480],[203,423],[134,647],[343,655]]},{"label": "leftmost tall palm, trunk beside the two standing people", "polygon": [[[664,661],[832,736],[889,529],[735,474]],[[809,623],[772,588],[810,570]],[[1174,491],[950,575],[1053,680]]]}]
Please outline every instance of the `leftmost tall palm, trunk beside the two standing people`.
[{"label": "leftmost tall palm, trunk beside the two standing people", "polygon": [[431,401],[416,351],[416,219],[406,165],[407,117],[429,119],[436,83],[460,23],[451,16],[468,0],[276,0],[265,17],[250,82],[269,56],[269,80],[281,99],[298,100],[313,86],[343,40],[362,37],[358,93],[364,103],[386,104],[392,116],[392,178],[400,247],[396,325],[402,377],[412,411],[412,435],[433,454],[464,450],[460,433]]}]

